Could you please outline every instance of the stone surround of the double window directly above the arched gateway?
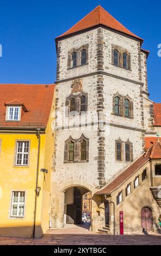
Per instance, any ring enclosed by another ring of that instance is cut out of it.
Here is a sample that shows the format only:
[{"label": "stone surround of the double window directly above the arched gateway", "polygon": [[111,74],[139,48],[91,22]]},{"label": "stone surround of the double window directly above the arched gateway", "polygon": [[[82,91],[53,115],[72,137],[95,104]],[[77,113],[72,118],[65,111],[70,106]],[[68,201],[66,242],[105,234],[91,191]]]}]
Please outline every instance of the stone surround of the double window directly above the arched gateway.
[{"label": "stone surround of the double window directly above the arched gateway", "polygon": [[[80,159],[80,143],[82,141],[86,141],[86,160]],[[68,153],[69,153],[69,143],[73,142],[75,143],[75,151],[74,151],[74,160],[69,160]],[[78,138],[73,139],[71,136],[65,141],[64,146],[64,163],[83,163],[83,162],[89,162],[89,138],[85,137],[84,134]]]}]

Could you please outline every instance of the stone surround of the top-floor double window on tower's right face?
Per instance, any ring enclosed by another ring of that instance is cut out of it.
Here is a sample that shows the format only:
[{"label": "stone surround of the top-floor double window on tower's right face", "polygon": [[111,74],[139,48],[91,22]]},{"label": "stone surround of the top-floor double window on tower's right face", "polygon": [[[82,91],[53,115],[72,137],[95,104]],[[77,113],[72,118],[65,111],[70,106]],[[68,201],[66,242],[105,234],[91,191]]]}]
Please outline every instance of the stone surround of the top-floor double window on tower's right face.
[{"label": "stone surround of the top-floor double window on tower's right face", "polygon": [[[114,65],[114,50],[119,52],[119,66]],[[123,53],[127,54],[127,66],[128,66],[127,69],[123,68]],[[116,66],[117,68],[122,68],[125,70],[132,71],[131,70],[131,54],[125,48],[112,44],[112,65]]]}]

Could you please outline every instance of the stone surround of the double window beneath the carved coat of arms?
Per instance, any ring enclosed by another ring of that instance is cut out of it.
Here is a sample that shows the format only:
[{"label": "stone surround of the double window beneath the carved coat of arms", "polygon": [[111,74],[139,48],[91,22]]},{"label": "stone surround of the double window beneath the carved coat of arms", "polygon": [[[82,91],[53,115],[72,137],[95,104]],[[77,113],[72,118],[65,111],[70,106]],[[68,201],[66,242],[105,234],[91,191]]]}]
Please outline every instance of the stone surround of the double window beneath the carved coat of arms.
[{"label": "stone surround of the double window beneath the carved coat of arms", "polygon": [[71,93],[69,96],[66,97],[65,101],[65,107],[66,107],[66,117],[73,117],[73,115],[70,115],[70,100],[72,98],[75,99],[75,112],[76,114],[82,114],[83,112],[80,112],[80,97],[85,96],[85,113],[88,111],[88,93],[86,92],[78,92],[78,93]]}]

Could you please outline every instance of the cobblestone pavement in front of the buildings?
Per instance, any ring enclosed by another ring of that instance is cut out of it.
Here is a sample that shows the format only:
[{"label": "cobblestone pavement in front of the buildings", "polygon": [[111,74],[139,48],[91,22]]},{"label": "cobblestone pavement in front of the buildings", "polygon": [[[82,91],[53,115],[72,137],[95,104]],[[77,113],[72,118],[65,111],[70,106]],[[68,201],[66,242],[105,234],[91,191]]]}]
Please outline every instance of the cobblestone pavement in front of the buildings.
[{"label": "cobblestone pavement in front of the buildings", "polygon": [[50,229],[40,239],[0,237],[0,245],[161,245],[161,235],[106,235],[87,229]]}]

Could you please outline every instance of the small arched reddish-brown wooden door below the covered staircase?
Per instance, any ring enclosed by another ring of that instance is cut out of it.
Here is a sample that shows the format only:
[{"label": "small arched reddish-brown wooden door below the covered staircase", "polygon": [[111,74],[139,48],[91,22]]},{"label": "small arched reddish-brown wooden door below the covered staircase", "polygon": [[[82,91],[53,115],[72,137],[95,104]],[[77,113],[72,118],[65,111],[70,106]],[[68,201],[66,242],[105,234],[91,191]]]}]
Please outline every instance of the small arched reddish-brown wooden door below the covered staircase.
[{"label": "small arched reddish-brown wooden door below the covered staircase", "polygon": [[153,214],[148,207],[141,209],[141,227],[146,231],[152,231],[153,228]]}]

